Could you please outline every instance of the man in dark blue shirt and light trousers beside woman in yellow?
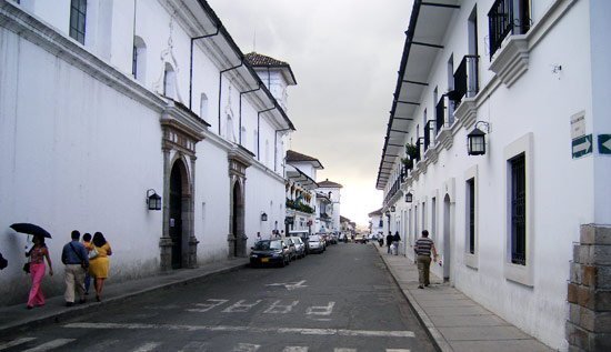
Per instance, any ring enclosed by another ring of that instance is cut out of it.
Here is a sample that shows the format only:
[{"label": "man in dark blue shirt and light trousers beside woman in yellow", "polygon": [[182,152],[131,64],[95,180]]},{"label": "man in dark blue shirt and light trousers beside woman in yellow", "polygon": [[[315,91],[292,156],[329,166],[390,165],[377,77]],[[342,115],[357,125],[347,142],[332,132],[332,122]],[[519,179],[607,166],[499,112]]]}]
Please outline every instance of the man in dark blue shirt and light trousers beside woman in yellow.
[{"label": "man in dark blue shirt and light trousers beside woman in yellow", "polygon": [[63,245],[61,251],[61,262],[66,265],[64,280],[66,292],[63,293],[63,300],[66,306],[72,306],[74,304],[74,289],[79,294],[79,303],[84,303],[84,273],[89,268],[89,257],[84,245],[79,242],[81,233],[77,230],[72,231],[72,241]]}]

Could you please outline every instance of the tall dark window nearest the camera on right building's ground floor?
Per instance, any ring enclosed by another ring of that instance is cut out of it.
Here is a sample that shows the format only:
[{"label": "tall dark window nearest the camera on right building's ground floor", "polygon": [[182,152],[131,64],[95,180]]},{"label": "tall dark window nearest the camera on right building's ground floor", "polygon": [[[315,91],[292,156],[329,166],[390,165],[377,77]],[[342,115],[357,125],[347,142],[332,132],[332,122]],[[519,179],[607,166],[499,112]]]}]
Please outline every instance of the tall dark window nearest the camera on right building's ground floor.
[{"label": "tall dark window nearest the camera on right building's ground floor", "polygon": [[527,263],[527,184],[525,158],[520,154],[509,161],[511,168],[511,262]]}]

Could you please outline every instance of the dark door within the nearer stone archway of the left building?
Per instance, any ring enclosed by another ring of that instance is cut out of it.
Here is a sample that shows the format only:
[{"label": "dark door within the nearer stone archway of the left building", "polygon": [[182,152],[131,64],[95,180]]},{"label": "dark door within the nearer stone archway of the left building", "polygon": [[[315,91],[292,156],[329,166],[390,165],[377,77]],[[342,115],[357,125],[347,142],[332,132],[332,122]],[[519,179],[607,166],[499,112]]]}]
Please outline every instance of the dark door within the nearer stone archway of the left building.
[{"label": "dark door within the nearer stone archway of the left building", "polygon": [[183,197],[186,168],[182,161],[177,160],[170,172],[170,239],[172,240],[172,269],[182,268],[184,227],[183,213],[187,210]]}]

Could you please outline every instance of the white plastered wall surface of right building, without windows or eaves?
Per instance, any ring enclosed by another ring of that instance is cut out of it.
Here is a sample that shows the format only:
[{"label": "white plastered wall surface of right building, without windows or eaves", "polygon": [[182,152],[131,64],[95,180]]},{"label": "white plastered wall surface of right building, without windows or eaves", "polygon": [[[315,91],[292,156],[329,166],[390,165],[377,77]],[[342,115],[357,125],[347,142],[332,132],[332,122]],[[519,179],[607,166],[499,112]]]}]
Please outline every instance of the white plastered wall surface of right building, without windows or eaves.
[{"label": "white plastered wall surface of right building, without windows or eaves", "polygon": [[[564,350],[564,321],[568,314],[565,292],[573,242],[579,240],[580,225],[597,222],[597,209],[604,210],[610,204],[601,198],[597,200],[594,194],[598,190],[593,188],[600,184],[601,189],[607,189],[607,184],[602,185],[604,179],[597,177],[597,173],[608,173],[609,158],[592,154],[571,158],[570,118],[584,111],[587,133],[595,133],[598,125],[609,124],[602,122],[609,119],[597,114],[592,107],[594,103],[599,107],[598,111],[607,110],[602,110],[605,98],[593,94],[592,87],[604,91],[608,88],[602,86],[608,84],[602,81],[593,84],[592,76],[600,77],[599,71],[608,72],[608,69],[599,63],[602,61],[592,60],[590,56],[595,51],[608,58],[609,50],[591,48],[590,3],[578,1],[530,50],[528,71],[508,88],[489,70],[490,59],[484,51],[487,13],[492,2],[478,1],[480,91],[488,90],[475,100],[477,121],[490,123],[487,153],[468,157],[467,134],[473,128],[454,129],[452,147],[449,150],[438,148],[438,161],[429,163],[423,173],[412,179],[410,189],[414,190],[413,203],[405,204],[400,200],[399,205],[401,209],[411,209],[412,217],[417,218],[412,221],[418,223],[418,238],[422,229],[432,227],[430,207],[435,194],[438,230],[434,240],[437,248],[443,249],[443,199],[450,193],[454,202],[451,220],[453,250],[451,263],[445,264],[451,265],[451,282],[527,333],[554,349]],[[429,87],[421,97],[421,105],[414,117],[421,117],[424,109],[433,111],[431,97],[435,87],[441,92],[447,90],[447,62],[453,53],[455,69],[465,53],[467,19],[474,3],[464,1],[460,11],[455,10],[458,14],[451,21],[444,49],[435,60],[435,69],[428,80]],[[543,4],[534,4],[535,21],[548,9]],[[599,26],[608,26],[597,23],[597,29],[600,29]],[[562,66],[562,70],[554,73],[554,66]],[[595,71],[592,73],[592,70]],[[594,102],[591,97],[594,97]],[[409,135],[415,134],[415,124],[411,127]],[[527,257],[531,260],[528,270],[531,271],[532,286],[509,280],[504,262],[508,250],[505,151],[528,135],[532,137],[532,148],[528,152],[532,163],[528,167],[530,183],[527,192],[532,201],[527,205],[530,224],[528,238],[531,241]],[[600,168],[597,169],[594,163],[599,161]],[[477,180],[475,255],[467,254],[465,180],[471,175],[475,175]],[[444,185],[452,180],[455,189],[447,192]],[[427,209],[424,223],[423,202]],[[608,219],[609,212],[600,212],[601,219]],[[391,219],[391,229],[392,223]],[[408,227],[414,228],[413,224]],[[438,276],[443,276],[443,268],[439,264],[432,265],[431,270]]]}]

